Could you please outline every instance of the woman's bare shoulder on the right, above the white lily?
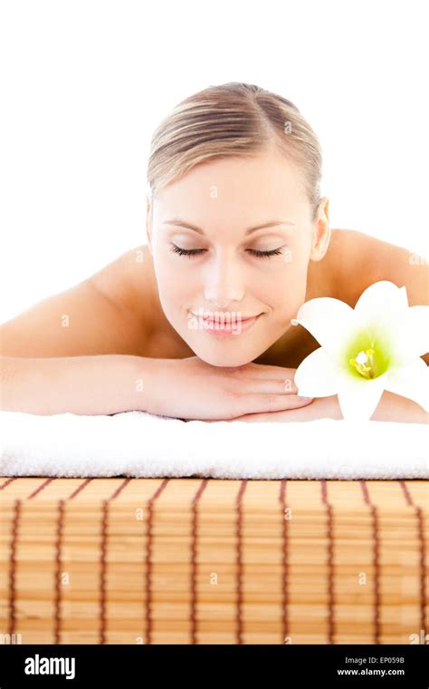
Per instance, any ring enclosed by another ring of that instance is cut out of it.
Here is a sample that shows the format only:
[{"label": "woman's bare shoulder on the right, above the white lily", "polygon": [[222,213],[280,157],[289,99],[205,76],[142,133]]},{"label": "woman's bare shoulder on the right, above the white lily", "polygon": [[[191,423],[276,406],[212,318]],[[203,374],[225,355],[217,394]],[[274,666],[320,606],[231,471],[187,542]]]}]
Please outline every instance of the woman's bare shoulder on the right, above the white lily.
[{"label": "woman's bare shoulder on the right, above the white lily", "polygon": [[411,249],[356,229],[333,229],[326,257],[327,269],[336,275],[334,296],[350,306],[378,280],[405,286],[410,306],[429,302],[429,267],[424,257]]}]

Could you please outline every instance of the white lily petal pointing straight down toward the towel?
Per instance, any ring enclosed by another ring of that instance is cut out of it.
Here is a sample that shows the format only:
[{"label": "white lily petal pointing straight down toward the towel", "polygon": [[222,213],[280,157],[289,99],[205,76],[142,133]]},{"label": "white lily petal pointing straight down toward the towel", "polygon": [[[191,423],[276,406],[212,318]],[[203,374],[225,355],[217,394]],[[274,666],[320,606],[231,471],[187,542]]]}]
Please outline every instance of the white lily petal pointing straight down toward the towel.
[{"label": "white lily petal pointing straight down toward the towel", "polygon": [[353,374],[338,376],[338,403],[344,419],[368,421],[385,390],[386,374],[367,380]]}]

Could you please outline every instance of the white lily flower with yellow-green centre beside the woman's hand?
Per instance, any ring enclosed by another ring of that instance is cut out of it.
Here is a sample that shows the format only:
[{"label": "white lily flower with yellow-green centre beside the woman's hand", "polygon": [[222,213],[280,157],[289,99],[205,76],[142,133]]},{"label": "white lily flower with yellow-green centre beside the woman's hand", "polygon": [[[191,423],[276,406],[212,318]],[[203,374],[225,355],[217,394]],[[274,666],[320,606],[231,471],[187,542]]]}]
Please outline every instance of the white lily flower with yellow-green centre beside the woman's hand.
[{"label": "white lily flower with yellow-green centre beside the woman's hand", "polygon": [[298,366],[298,394],[338,395],[344,419],[365,421],[385,390],[414,400],[429,412],[429,306],[408,306],[405,286],[380,280],[353,309],[328,296],[310,299],[292,325],[319,342]]}]

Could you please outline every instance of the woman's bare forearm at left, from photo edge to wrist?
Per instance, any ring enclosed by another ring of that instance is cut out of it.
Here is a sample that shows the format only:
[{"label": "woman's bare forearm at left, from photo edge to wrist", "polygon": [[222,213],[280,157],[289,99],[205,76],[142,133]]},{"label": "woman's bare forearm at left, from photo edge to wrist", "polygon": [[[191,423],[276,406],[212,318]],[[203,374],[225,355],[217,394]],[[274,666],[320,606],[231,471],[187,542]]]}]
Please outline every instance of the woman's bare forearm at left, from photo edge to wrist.
[{"label": "woman's bare forearm at left, from photo edge to wrist", "polygon": [[144,410],[151,360],[124,354],[0,359],[0,408],[33,414]]}]

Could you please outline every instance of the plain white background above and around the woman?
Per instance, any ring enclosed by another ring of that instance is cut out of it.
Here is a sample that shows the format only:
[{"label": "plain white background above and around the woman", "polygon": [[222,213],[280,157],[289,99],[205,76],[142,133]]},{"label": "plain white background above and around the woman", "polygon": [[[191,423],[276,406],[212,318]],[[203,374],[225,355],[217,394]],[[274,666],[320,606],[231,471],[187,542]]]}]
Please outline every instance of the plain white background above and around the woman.
[{"label": "plain white background above and around the woman", "polygon": [[0,321],[146,240],[158,121],[242,81],[317,132],[332,228],[428,254],[425,3],[0,5]]}]

